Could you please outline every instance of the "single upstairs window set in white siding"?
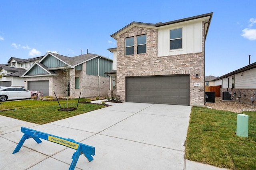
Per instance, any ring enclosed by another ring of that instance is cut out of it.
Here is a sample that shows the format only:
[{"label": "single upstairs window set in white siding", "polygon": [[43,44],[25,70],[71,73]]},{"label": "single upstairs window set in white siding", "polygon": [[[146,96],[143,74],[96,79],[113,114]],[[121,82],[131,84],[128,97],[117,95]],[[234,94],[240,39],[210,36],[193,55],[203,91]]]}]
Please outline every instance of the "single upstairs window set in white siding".
[{"label": "single upstairs window set in white siding", "polygon": [[170,30],[170,50],[182,48],[182,28]]}]

